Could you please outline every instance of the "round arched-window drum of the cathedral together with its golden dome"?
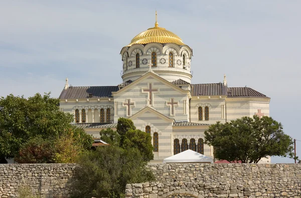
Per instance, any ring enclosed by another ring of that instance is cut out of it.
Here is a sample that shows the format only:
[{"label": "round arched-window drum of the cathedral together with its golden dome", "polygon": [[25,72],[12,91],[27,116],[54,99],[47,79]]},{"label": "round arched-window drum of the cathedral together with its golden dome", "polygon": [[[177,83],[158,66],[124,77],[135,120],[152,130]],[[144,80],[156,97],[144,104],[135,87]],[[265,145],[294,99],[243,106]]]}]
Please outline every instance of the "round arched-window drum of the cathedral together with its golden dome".
[{"label": "round arched-window drum of the cathedral together with its golden dome", "polygon": [[158,26],[136,35],[121,49],[123,82],[135,80],[149,70],[169,81],[191,82],[192,49],[175,33]]}]

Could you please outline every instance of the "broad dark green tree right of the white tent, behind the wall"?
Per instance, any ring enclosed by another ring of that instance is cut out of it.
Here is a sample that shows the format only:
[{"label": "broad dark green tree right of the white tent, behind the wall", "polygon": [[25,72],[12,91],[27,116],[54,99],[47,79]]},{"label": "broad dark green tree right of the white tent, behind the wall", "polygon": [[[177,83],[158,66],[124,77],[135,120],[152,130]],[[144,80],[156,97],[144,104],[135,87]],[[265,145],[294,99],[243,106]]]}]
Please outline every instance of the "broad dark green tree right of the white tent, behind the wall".
[{"label": "broad dark green tree right of the white tent, behind the wall", "polygon": [[209,126],[205,143],[214,146],[214,155],[228,161],[257,163],[267,156],[293,157],[292,138],[284,134],[280,122],[268,116],[242,117]]}]

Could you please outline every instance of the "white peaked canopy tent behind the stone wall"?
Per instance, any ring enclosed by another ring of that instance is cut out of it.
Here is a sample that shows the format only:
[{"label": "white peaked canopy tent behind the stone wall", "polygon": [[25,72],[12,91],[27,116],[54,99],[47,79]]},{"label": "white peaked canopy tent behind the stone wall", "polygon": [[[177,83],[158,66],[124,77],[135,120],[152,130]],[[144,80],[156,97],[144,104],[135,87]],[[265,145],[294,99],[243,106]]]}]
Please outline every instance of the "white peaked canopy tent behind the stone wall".
[{"label": "white peaked canopy tent behind the stone wall", "polygon": [[213,158],[188,149],[163,159],[163,163],[213,163]]}]

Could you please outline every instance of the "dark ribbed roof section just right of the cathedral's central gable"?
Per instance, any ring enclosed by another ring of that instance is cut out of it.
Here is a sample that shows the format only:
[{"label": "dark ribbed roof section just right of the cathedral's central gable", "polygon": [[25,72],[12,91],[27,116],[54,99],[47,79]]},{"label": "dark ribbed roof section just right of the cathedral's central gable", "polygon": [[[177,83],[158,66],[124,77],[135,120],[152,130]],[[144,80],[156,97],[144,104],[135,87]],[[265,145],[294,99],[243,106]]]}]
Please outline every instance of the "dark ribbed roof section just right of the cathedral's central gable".
[{"label": "dark ribbed roof section just right of the cathedral's central gable", "polygon": [[209,84],[192,84],[191,93],[193,96],[201,95],[223,95],[223,84],[209,83]]}]

